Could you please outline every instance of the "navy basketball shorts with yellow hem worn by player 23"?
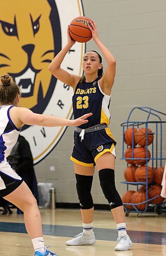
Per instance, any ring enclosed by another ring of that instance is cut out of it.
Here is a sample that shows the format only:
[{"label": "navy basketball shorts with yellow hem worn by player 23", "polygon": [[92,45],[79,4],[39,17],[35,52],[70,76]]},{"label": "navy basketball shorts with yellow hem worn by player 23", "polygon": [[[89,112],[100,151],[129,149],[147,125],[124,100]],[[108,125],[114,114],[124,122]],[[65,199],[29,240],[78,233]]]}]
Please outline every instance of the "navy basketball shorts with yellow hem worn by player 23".
[{"label": "navy basketball shorts with yellow hem worn by player 23", "polygon": [[85,133],[81,141],[80,133],[74,133],[74,148],[70,160],[83,166],[91,167],[106,152],[115,156],[116,142],[109,127],[91,133]]}]

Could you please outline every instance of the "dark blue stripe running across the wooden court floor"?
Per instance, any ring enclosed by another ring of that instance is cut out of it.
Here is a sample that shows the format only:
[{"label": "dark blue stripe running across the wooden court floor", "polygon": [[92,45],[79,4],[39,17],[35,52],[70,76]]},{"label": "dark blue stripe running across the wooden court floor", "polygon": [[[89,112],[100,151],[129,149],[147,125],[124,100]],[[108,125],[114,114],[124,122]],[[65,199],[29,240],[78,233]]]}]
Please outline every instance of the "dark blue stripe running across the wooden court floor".
[{"label": "dark blue stripe running across the wooden court floor", "polygon": [[[43,233],[48,236],[74,237],[82,232],[82,227],[43,224]],[[97,240],[116,241],[117,230],[94,228]],[[24,223],[0,222],[0,231],[27,233]],[[166,233],[128,230],[133,243],[166,245]]]}]

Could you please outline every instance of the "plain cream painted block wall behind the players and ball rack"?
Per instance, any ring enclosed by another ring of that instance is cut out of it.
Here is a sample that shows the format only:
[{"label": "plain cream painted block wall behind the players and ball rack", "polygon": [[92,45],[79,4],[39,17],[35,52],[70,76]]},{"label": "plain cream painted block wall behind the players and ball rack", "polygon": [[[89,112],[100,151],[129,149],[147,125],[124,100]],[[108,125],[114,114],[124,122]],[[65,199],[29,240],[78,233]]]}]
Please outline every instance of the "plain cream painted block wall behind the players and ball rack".
[{"label": "plain cream painted block wall behind the players and ball rack", "polygon": [[[85,16],[94,19],[101,41],[117,61],[116,79],[110,105],[112,133],[116,146],[116,187],[121,196],[126,186],[122,157],[122,127],[135,106],[149,106],[166,112],[166,2],[165,0],[83,0]],[[93,40],[87,50],[98,50]],[[105,62],[104,62],[105,65]],[[136,120],[145,118],[136,113]],[[53,182],[57,202],[78,202],[73,163],[73,131],[68,127],[55,150],[35,165],[38,182]],[[166,154],[166,124],[163,127],[163,156]],[[164,164],[164,163],[163,163]],[[50,166],[55,166],[55,172]],[[134,187],[133,187],[134,189]],[[94,203],[107,204],[94,175]]]}]

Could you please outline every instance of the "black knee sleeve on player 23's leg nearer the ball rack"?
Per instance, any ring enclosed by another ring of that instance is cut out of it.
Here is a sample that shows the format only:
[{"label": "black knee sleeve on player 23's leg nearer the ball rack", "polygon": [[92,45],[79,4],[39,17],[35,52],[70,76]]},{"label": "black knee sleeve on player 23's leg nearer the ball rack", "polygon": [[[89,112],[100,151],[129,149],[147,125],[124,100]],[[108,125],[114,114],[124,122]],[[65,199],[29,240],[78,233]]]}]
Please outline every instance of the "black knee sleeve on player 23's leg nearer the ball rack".
[{"label": "black knee sleeve on player 23's leg nearer the ball rack", "polygon": [[115,187],[115,175],[113,169],[99,171],[100,185],[111,209],[122,206],[122,199]]}]

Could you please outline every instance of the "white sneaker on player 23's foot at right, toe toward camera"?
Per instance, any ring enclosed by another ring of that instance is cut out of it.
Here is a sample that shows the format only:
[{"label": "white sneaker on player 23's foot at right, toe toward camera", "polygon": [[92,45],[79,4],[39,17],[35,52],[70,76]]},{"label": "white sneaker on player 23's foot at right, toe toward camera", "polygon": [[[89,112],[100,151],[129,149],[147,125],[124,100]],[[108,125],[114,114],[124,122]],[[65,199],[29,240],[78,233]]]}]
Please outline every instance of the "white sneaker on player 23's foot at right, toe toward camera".
[{"label": "white sneaker on player 23's foot at right, toe toward camera", "polygon": [[127,234],[121,234],[117,238],[117,245],[115,246],[115,251],[127,251],[131,248],[132,242]]}]

